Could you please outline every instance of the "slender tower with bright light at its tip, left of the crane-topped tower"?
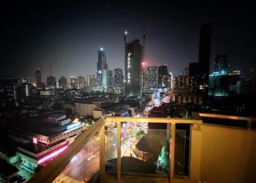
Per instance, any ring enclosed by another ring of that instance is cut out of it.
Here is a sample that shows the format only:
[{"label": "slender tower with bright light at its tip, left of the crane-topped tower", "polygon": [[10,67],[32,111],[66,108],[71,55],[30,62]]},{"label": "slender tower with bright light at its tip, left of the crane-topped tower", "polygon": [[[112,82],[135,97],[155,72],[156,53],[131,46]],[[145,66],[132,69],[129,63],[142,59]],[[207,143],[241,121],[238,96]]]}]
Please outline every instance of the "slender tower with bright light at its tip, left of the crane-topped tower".
[{"label": "slender tower with bright light at its tip, left of the crane-topped tower", "polygon": [[108,64],[106,62],[106,54],[104,49],[101,47],[98,51],[98,61],[97,61],[97,76],[98,76],[98,85],[102,84],[102,70],[108,69]]}]

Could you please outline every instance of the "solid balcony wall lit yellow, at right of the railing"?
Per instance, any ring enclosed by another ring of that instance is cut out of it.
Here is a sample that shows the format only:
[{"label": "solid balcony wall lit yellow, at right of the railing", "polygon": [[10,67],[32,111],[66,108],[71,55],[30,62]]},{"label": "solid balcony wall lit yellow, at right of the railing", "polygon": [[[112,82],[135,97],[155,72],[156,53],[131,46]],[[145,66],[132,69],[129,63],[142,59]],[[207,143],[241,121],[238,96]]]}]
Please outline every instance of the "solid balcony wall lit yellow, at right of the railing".
[{"label": "solid balcony wall lit yellow, at right of the railing", "polygon": [[256,182],[256,131],[192,127],[190,179],[209,183]]}]

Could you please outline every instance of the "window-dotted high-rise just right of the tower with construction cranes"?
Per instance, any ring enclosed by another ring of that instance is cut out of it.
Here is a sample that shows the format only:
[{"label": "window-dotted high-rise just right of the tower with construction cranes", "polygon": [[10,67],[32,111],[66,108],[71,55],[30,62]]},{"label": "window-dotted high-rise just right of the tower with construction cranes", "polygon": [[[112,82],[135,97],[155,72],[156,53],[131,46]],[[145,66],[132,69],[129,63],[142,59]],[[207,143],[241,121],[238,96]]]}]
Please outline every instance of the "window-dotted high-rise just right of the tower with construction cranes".
[{"label": "window-dotted high-rise just right of the tower with construction cranes", "polygon": [[158,87],[158,67],[150,66],[145,68],[145,88]]}]

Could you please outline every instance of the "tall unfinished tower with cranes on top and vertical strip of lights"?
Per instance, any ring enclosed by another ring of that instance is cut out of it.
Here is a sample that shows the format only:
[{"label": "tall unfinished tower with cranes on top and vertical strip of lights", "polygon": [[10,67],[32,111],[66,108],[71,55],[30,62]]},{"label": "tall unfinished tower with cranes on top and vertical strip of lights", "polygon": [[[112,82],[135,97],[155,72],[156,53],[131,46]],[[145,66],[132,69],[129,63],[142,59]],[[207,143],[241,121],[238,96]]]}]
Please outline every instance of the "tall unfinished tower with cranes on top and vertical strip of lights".
[{"label": "tall unfinished tower with cranes on top and vertical strip of lights", "polygon": [[143,47],[140,40],[125,40],[125,93],[129,96],[141,95],[141,67]]}]

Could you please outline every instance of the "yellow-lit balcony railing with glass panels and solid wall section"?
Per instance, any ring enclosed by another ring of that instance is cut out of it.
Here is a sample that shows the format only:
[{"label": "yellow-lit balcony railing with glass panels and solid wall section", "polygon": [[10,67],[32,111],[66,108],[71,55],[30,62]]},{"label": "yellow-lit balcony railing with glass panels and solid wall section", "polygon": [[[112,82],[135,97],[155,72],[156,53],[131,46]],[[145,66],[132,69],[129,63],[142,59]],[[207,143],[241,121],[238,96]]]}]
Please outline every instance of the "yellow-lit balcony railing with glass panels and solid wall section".
[{"label": "yellow-lit balcony railing with glass panels and solid wall section", "polygon": [[[255,118],[200,116],[246,125],[234,127],[184,118],[100,118],[28,182],[93,182],[97,177],[100,182],[256,181]],[[138,124],[142,124],[140,129]],[[158,129],[143,124],[154,124]],[[188,125],[187,130],[180,129],[180,125]],[[233,175],[236,172],[241,174]]]}]

